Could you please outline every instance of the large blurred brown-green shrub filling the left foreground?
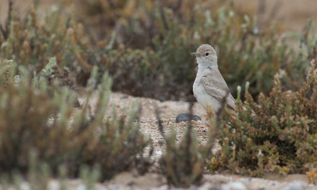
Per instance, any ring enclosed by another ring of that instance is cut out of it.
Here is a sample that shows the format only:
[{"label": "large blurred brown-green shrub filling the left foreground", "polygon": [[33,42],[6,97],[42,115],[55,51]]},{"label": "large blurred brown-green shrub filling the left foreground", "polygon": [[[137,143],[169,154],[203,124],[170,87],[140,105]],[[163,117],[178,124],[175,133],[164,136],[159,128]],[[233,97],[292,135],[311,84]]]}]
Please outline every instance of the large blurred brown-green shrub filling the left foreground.
[{"label": "large blurred brown-green shrub filling the left foreground", "polygon": [[[1,73],[4,76],[3,70]],[[87,102],[97,78],[97,67],[93,68],[87,101],[74,113],[75,93],[68,87],[60,87],[58,81],[48,87],[44,78],[34,88],[24,66],[19,73],[18,83],[9,73],[7,85],[0,86],[0,175],[13,169],[28,173],[31,150],[36,150],[39,162],[46,163],[54,176],[63,164],[68,177],[77,177],[85,164],[98,166],[100,180],[105,180],[135,162],[146,163],[142,153],[147,140],[133,123],[137,104],[129,119],[124,115],[104,119],[111,86],[107,74],[97,85],[98,101],[91,110]]]}]

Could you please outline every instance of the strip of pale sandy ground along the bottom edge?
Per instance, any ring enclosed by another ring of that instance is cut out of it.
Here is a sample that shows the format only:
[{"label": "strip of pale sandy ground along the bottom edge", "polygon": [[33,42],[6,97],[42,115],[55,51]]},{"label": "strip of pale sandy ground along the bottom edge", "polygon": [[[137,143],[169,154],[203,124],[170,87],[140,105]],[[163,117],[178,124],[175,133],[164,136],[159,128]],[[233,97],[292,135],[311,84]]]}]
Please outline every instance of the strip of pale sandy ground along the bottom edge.
[{"label": "strip of pale sandy ground along the bottom edge", "polygon": [[[281,177],[279,177],[281,179]],[[106,189],[149,189],[149,190],[316,190],[317,186],[301,182],[302,176],[294,174],[288,176],[291,180],[272,181],[262,178],[248,178],[237,175],[204,174],[201,186],[192,185],[188,188],[176,188],[166,184],[166,179],[161,174],[147,173],[143,176],[133,172],[123,172],[116,175],[112,180],[96,184],[97,190]],[[52,184],[58,183],[55,180]],[[77,190],[83,187],[82,181],[71,180],[67,182],[69,190]],[[56,185],[55,185],[56,186]]]}]

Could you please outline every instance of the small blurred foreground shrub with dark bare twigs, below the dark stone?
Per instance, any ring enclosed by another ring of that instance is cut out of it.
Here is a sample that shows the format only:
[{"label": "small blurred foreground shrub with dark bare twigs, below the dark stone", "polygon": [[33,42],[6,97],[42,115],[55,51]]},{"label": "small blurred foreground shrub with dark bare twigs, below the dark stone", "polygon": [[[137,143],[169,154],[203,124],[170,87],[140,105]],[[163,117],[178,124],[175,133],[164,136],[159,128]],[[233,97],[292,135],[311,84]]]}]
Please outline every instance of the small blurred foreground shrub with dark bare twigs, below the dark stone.
[{"label": "small blurred foreground shrub with dark bare twigs, below the dark stone", "polygon": [[[223,102],[225,102],[223,98]],[[191,103],[189,112],[192,111]],[[166,153],[160,158],[160,165],[163,174],[166,176],[168,183],[177,187],[189,187],[191,184],[201,183],[205,171],[206,160],[211,153],[215,143],[217,131],[220,127],[220,115],[223,111],[224,104],[216,113],[217,123],[214,117],[210,118],[209,139],[208,143],[202,145],[196,136],[193,124],[188,122],[181,142],[177,142],[176,132],[171,126],[171,134],[166,136],[163,131],[163,124],[158,119],[158,128],[164,138]],[[211,114],[211,111],[210,111]],[[159,118],[158,110],[157,117]],[[189,118],[191,120],[191,118]]]}]

